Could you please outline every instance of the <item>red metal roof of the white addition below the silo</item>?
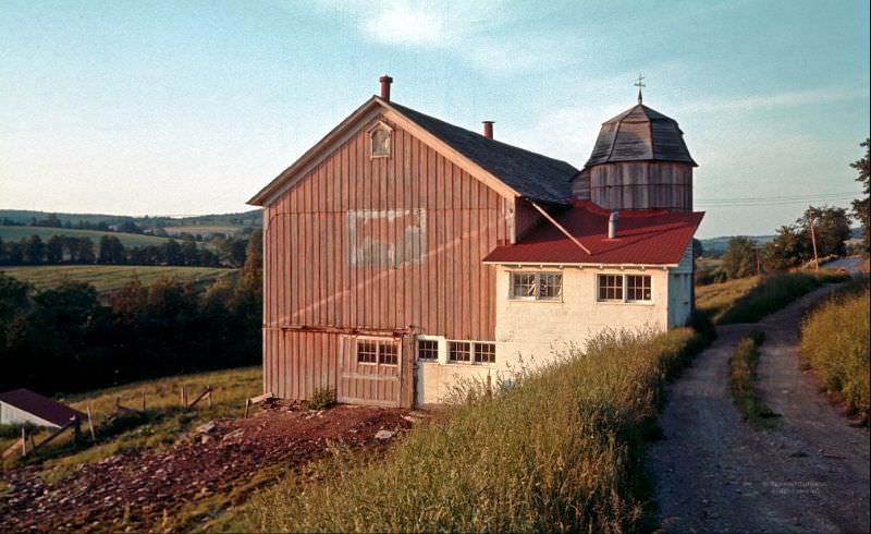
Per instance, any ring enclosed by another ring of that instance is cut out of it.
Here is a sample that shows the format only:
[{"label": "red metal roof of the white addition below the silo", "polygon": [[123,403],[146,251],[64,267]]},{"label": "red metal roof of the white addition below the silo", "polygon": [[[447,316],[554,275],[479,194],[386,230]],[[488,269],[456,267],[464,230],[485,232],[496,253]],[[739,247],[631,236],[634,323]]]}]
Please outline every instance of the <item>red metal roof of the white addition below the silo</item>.
[{"label": "red metal roof of the white addition below the silo", "polygon": [[544,221],[518,243],[496,247],[483,260],[495,264],[635,264],[674,265],[680,262],[703,211],[621,210],[617,238],[608,239],[611,213],[589,201],[555,217],[587,254],[551,222]]}]

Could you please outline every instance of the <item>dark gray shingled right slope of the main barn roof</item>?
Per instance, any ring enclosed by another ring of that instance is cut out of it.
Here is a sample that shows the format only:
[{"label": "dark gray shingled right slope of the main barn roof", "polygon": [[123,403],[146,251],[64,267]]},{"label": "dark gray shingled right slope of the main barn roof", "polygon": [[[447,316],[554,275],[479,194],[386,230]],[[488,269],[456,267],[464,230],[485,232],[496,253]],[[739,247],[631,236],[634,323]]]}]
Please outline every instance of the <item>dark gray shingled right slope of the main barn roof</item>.
[{"label": "dark gray shingled right slope of the main barn roof", "polygon": [[449,124],[393,101],[385,104],[481,166],[523,196],[550,204],[571,203],[571,182],[579,171],[565,161],[488,139],[479,133]]}]

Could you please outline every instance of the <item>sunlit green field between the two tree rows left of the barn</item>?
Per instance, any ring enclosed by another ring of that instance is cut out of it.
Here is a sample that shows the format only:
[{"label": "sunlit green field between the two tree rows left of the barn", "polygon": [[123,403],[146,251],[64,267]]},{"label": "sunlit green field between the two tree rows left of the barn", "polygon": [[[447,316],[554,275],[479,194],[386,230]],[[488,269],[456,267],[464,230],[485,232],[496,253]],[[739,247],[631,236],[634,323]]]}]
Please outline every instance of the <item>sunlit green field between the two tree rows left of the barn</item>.
[{"label": "sunlit green field between the two tree rows left of the barn", "polygon": [[62,280],[88,282],[97,291],[114,291],[133,277],[148,286],[160,278],[181,278],[207,283],[236,276],[237,269],[214,267],[158,267],[133,265],[45,265],[33,267],[0,267],[10,276],[34,284],[37,290],[57,287]]}]

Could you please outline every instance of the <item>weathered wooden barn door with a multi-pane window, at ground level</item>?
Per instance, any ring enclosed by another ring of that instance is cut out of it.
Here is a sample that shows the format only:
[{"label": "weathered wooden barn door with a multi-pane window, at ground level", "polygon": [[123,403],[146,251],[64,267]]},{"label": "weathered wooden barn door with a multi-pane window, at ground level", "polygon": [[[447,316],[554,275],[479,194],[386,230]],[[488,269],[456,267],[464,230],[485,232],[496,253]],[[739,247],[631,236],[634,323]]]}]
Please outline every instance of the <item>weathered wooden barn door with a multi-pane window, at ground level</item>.
[{"label": "weathered wooden barn door with a multi-pane window, at ground level", "polygon": [[402,338],[342,336],[336,400],[348,404],[401,405],[403,360]]}]

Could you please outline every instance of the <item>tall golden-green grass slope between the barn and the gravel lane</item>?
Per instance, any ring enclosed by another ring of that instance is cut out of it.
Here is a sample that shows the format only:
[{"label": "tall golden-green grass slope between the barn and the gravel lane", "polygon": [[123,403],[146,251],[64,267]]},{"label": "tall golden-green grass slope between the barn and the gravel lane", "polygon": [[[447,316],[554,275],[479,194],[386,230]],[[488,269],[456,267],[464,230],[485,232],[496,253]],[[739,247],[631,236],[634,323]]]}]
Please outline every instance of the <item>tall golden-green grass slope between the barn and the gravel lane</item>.
[{"label": "tall golden-green grass slope between the barn and the gravel lane", "polygon": [[706,338],[608,332],[584,353],[466,390],[384,460],[339,453],[327,482],[255,497],[250,527],[295,532],[596,531],[639,527],[645,433],[670,375]]}]

